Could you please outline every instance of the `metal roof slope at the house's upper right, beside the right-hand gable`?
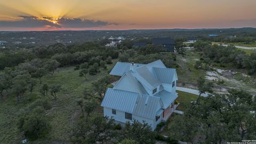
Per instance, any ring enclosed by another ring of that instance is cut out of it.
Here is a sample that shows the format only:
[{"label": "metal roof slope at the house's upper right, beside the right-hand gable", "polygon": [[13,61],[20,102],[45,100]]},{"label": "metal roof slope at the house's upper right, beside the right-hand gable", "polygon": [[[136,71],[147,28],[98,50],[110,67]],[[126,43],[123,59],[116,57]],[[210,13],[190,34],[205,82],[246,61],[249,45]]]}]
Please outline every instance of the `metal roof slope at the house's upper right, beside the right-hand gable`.
[{"label": "metal roof slope at the house's upper right, beside the right-hand gable", "polygon": [[164,84],[172,84],[176,69],[173,68],[153,68],[157,79]]}]

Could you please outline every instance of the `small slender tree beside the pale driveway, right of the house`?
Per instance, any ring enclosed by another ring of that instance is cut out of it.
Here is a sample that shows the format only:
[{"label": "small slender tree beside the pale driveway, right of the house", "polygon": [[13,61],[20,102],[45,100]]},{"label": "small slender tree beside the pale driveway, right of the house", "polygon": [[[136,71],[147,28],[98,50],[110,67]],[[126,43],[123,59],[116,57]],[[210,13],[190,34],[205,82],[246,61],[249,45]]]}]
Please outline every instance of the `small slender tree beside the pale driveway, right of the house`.
[{"label": "small slender tree beside the pale driveway, right of the house", "polygon": [[209,92],[209,93],[213,92],[213,90],[212,90],[213,83],[205,82],[205,79],[203,77],[199,77],[197,79],[197,86],[198,86],[199,96],[196,100],[196,103],[199,104],[201,94],[206,93],[206,92]]}]

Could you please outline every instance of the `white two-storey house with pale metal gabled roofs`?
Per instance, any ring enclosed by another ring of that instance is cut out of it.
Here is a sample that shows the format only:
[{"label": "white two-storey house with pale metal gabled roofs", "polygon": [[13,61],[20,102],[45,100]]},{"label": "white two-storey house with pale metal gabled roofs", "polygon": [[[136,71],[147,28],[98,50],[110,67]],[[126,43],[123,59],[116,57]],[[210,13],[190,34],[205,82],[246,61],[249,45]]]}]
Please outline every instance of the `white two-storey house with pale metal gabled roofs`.
[{"label": "white two-storey house with pale metal gabled roofs", "polygon": [[176,69],[166,68],[161,60],[146,65],[117,62],[110,75],[122,77],[107,90],[101,106],[104,115],[117,123],[137,119],[154,130],[178,106],[174,105],[178,98]]}]

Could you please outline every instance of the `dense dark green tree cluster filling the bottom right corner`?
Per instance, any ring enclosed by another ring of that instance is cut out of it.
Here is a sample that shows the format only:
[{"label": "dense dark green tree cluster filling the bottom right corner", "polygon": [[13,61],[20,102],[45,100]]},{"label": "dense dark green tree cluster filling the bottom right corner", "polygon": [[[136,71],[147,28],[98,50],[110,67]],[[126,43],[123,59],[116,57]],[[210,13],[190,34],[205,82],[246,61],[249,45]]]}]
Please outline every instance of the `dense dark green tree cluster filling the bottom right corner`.
[{"label": "dense dark green tree cluster filling the bottom right corner", "polygon": [[225,143],[256,138],[255,98],[241,91],[214,94],[191,102],[173,117],[171,137],[191,143]]}]

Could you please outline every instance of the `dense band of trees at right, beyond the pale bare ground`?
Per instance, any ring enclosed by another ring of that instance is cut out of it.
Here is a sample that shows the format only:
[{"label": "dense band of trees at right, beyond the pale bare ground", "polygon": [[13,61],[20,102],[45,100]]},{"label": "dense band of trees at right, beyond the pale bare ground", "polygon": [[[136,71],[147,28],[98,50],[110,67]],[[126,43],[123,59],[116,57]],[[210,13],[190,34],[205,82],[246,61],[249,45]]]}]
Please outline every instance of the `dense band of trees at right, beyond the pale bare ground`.
[{"label": "dense band of trees at right, beyond the pale bare ground", "polygon": [[248,55],[234,46],[211,45],[208,41],[197,41],[194,47],[202,53],[201,60],[207,67],[215,62],[222,67],[229,65],[233,68],[246,69],[250,75],[256,74],[256,52]]}]

